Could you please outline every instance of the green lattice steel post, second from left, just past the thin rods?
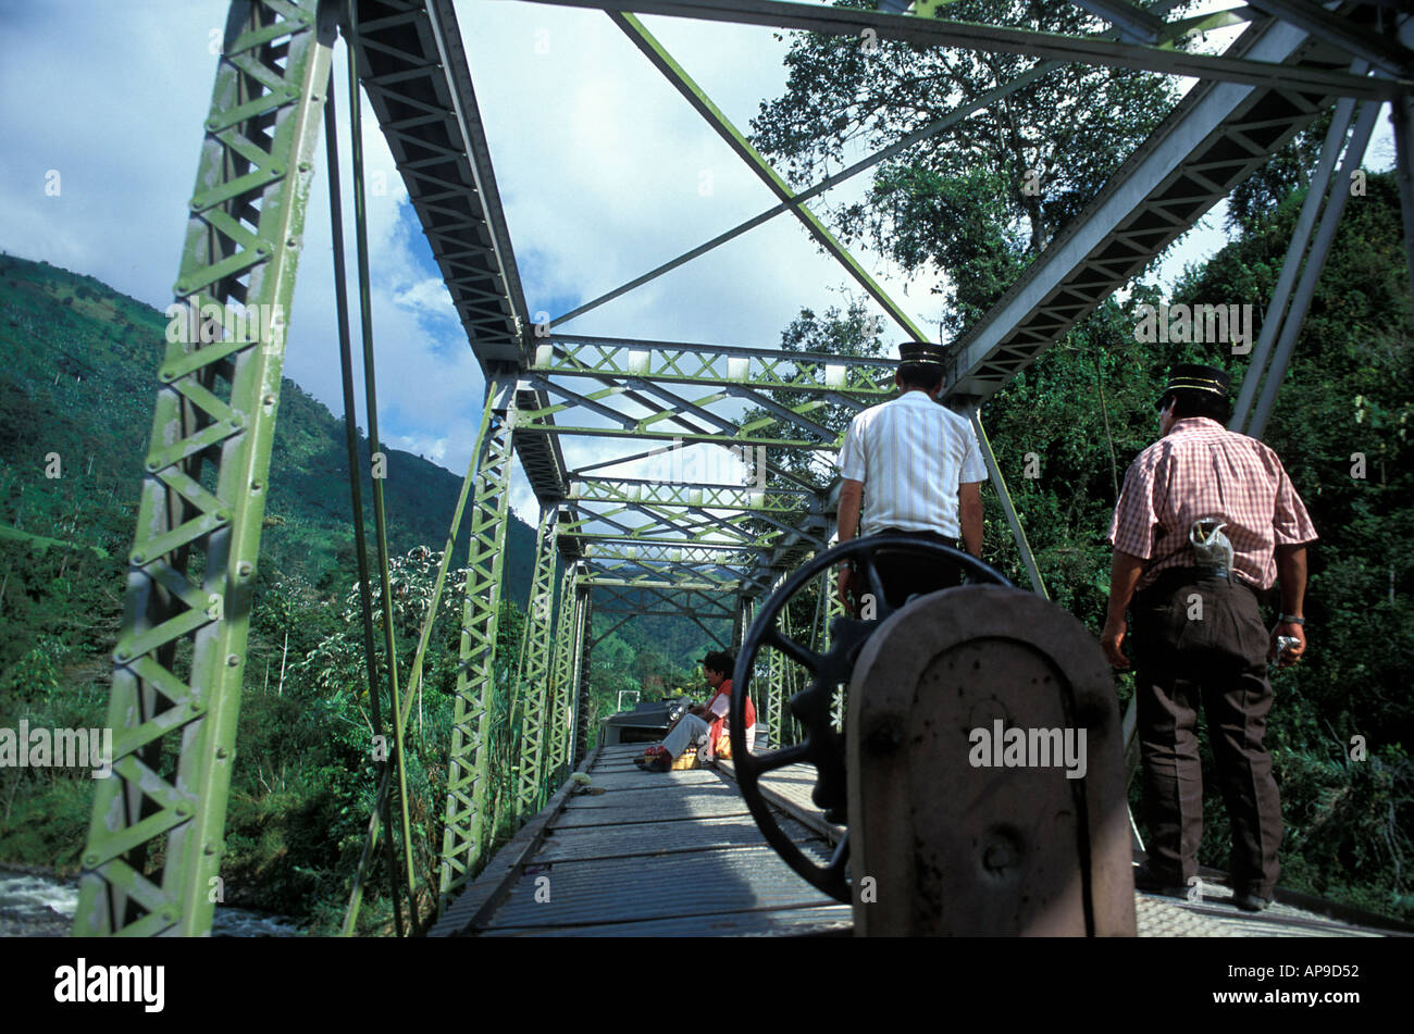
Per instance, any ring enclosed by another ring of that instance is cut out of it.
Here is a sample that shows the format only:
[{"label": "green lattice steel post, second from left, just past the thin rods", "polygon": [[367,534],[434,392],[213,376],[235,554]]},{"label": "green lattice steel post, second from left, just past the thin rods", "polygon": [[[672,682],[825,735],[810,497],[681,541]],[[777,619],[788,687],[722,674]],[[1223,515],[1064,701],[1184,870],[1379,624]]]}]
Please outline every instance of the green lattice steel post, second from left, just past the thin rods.
[{"label": "green lattice steel post, second from left, just past the thin rods", "polygon": [[447,773],[440,911],[471,881],[471,870],[486,848],[491,694],[495,691],[496,626],[510,518],[513,390],[512,379],[486,384],[488,397],[498,397],[499,405],[486,431],[486,455],[477,469],[472,497],[461,664]]}]

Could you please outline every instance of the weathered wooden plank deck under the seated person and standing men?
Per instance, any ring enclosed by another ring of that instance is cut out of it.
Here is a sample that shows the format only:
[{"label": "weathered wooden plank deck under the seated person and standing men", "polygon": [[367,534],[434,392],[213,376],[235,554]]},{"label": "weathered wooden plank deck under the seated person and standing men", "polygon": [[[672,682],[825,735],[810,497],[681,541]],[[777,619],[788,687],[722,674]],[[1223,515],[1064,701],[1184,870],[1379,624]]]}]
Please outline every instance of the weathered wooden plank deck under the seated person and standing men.
[{"label": "weathered wooden plank deck under the seated person and standing men", "polygon": [[[433,937],[810,937],[853,929],[848,905],[816,891],[765,843],[734,781],[717,770],[645,773],[642,746],[600,747],[454,901]],[[762,780],[776,821],[823,863],[844,833],[810,800],[814,768]],[[1278,890],[1241,913],[1219,873],[1203,900],[1135,894],[1140,937],[1387,937],[1359,915]],[[1282,900],[1285,898],[1285,900]],[[1370,917],[1373,918],[1373,917]],[[1383,924],[1377,924],[1383,927]],[[1407,934],[1403,934],[1407,935]]]}]

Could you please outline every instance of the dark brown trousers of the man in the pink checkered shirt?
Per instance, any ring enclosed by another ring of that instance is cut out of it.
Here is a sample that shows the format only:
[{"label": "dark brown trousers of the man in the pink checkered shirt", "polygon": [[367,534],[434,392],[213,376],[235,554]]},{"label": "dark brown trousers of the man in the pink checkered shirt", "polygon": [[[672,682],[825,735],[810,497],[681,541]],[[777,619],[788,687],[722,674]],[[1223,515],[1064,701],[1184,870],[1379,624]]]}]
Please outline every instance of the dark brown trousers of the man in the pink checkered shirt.
[{"label": "dark brown trousers of the man in the pink checkered shirt", "polygon": [[1232,824],[1233,889],[1271,897],[1282,825],[1271,756],[1263,746],[1271,684],[1257,596],[1226,576],[1165,571],[1135,596],[1133,616],[1150,869],[1181,884],[1198,873],[1202,705]]}]

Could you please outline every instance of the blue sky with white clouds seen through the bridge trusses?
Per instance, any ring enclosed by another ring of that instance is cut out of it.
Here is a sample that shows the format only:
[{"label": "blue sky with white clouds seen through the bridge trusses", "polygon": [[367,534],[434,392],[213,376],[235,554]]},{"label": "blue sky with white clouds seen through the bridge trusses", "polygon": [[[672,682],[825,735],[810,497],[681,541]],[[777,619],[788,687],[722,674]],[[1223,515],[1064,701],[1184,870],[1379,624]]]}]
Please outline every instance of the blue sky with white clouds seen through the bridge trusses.
[{"label": "blue sky with white clouds seen through the bridge trusses", "polygon": [[[773,203],[602,13],[460,0],[457,14],[532,315],[560,315]],[[219,0],[0,0],[0,247],[165,308],[225,16]],[[782,89],[785,44],[771,30],[645,23],[740,127]],[[1208,48],[1220,45],[1215,34]],[[346,174],[342,47],[335,82]],[[1373,168],[1393,160],[1383,123]],[[386,185],[369,198],[382,429],[395,448],[460,475],[482,377],[372,117],[365,148],[370,182]],[[58,196],[44,191],[51,171],[61,175]],[[861,185],[827,198],[848,201]],[[1220,225],[1222,213],[1210,215],[1159,277],[1171,281],[1220,247]],[[286,374],[339,414],[322,174],[305,242]],[[908,278],[880,256],[857,254],[915,321],[936,326],[932,274]],[[564,329],[772,347],[800,308],[843,305],[850,288],[793,220],[776,219]],[[578,466],[602,459],[605,446],[564,448]],[[534,518],[519,473],[512,503]]]}]

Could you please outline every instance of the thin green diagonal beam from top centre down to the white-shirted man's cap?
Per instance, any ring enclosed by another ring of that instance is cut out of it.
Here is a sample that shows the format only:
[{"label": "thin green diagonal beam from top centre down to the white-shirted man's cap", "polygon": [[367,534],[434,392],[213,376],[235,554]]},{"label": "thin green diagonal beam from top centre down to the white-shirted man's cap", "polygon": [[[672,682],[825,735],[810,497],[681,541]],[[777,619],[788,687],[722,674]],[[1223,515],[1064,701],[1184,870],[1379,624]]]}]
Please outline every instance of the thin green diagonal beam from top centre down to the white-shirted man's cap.
[{"label": "thin green diagonal beam from top centre down to the white-shirted man's cap", "polygon": [[[707,124],[717,131],[738,158],[747,162],[749,168],[766,188],[776,195],[781,201],[793,201],[795,191],[790,185],[781,177],[779,172],[766,161],[765,155],[761,154],[751,141],[747,140],[745,134],[737,129],[732,121],[723,113],[717,105],[713,103],[707,92],[697,85],[691,76],[683,71],[683,66],[673,59],[673,55],[667,52],[667,48],[659,42],[643,23],[639,21],[632,14],[624,11],[605,11],[615,25],[624,30],[624,34],[633,41],[643,57],[662,72],[670,83],[683,95],[683,99],[691,105],[693,110],[697,112]],[[913,340],[930,340],[923,331],[915,323],[906,312],[889,298],[888,292],[880,287],[878,281],[868,274],[868,271],[860,264],[860,261],[850,254],[848,249],[840,243],[840,240],[830,233],[829,227],[820,220],[814,212],[806,208],[803,203],[793,205],[790,208],[792,215],[800,220],[800,225],[810,233],[812,237],[823,247],[830,256],[839,261],[855,283],[864,288],[864,291],[877,301],[884,311],[898,323],[904,331],[912,335]]]}]

